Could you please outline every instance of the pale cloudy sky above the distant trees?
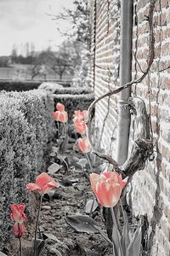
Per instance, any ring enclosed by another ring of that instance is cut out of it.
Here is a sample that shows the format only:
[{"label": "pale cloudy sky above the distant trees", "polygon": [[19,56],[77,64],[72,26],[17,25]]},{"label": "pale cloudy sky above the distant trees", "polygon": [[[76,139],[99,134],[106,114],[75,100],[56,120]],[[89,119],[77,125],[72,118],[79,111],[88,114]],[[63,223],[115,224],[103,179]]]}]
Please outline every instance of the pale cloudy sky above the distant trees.
[{"label": "pale cloudy sky above the distant trees", "polygon": [[73,0],[0,0],[0,55],[10,55],[14,44],[19,53],[22,45],[35,44],[36,50],[56,49],[64,38],[64,21],[52,20],[51,15],[71,8]]}]

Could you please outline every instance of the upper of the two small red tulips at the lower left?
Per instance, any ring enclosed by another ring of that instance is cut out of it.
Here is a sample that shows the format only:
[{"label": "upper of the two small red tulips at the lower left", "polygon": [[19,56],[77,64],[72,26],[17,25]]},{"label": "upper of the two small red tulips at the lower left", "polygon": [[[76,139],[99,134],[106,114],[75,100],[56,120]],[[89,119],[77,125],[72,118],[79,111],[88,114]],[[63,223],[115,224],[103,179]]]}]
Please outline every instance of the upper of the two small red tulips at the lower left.
[{"label": "upper of the two small red tulips at the lower left", "polygon": [[24,213],[26,206],[21,203],[19,205],[10,205],[12,213],[10,214],[11,220],[14,220],[17,223],[23,223],[26,220],[26,215]]}]

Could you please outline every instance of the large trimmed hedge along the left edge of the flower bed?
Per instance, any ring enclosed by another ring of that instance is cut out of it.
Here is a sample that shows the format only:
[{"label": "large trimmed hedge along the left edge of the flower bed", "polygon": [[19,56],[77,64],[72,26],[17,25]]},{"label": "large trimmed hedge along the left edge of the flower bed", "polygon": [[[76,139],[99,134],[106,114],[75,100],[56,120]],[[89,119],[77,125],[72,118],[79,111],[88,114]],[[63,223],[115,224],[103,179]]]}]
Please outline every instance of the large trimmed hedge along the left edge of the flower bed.
[{"label": "large trimmed hedge along the left edge of the flower bed", "polygon": [[0,247],[13,232],[9,205],[28,201],[26,183],[45,170],[53,111],[45,90],[0,92]]}]

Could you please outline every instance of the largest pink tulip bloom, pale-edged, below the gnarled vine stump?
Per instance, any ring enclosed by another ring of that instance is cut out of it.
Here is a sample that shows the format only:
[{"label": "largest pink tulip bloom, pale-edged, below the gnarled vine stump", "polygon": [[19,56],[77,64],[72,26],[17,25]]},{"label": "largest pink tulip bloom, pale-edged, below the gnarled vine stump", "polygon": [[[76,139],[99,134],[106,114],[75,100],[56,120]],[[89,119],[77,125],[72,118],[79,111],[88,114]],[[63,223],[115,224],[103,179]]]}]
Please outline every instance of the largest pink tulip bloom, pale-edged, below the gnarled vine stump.
[{"label": "largest pink tulip bloom, pale-edged, below the gnarled vine stump", "polygon": [[122,194],[126,182],[117,172],[90,174],[90,183],[94,194],[103,207],[115,207]]}]

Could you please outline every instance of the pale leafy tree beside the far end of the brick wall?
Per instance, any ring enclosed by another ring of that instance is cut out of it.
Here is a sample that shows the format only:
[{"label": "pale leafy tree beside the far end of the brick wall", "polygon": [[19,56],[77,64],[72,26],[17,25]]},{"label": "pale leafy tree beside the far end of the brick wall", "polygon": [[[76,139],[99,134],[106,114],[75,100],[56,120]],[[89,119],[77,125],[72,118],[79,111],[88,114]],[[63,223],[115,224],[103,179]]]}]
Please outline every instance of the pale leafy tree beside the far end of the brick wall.
[{"label": "pale leafy tree beside the far end of the brick wall", "polygon": [[[88,62],[90,57],[90,23],[88,0],[74,1],[73,9],[64,9],[64,11],[55,16],[56,20],[69,20],[72,30],[64,32],[67,38],[76,45],[78,52],[78,62],[74,68],[73,86],[83,87],[89,85],[88,80]],[[61,32],[63,33],[63,32]]]}]

